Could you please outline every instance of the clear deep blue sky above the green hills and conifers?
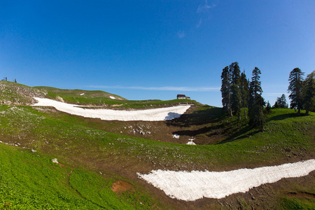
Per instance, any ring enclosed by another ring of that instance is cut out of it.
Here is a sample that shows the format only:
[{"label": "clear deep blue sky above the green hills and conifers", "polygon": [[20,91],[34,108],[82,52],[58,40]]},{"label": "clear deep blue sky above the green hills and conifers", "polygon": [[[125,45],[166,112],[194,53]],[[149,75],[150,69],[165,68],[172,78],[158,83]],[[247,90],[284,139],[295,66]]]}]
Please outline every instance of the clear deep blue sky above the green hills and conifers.
[{"label": "clear deep blue sky above the green hills and conifers", "polygon": [[292,69],[315,69],[314,11],[314,0],[0,0],[0,78],[222,106],[222,69],[239,62],[247,78],[262,71],[273,105]]}]

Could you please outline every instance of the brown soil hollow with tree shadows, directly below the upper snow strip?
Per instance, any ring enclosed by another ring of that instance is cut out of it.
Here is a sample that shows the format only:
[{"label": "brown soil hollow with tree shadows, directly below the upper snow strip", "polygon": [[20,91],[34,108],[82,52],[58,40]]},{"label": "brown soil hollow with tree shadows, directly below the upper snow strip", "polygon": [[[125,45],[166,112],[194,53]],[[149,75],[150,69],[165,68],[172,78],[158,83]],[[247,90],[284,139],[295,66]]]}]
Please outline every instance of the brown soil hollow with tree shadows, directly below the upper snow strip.
[{"label": "brown soil hollow with tree shadows, directly below the upper snow strip", "polygon": [[[48,109],[48,108],[47,108]],[[53,108],[50,108],[53,109]],[[85,126],[104,130],[129,137],[141,137],[154,141],[163,141],[176,144],[187,144],[194,139],[195,144],[218,144],[227,141],[233,130],[222,127],[220,121],[221,109],[193,105],[181,118],[169,121],[104,121],[95,118],[80,118]],[[58,111],[55,115],[58,115]],[[62,113],[64,115],[65,113]],[[70,116],[70,115],[69,115]],[[66,120],[66,119],[65,119]],[[73,121],[71,122],[73,123]],[[179,139],[173,137],[179,134]]]}]

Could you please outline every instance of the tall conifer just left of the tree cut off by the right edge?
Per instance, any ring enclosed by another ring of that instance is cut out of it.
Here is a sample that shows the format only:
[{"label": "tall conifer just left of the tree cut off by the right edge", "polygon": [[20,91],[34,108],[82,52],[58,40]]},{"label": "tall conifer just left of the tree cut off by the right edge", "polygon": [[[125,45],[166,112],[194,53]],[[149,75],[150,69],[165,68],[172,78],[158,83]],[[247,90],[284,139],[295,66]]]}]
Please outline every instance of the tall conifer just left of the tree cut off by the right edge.
[{"label": "tall conifer just left of the tree cut off by the right edge", "polygon": [[302,99],[302,85],[303,85],[304,72],[299,68],[290,71],[288,92],[290,93],[289,99],[290,109],[297,109],[297,116],[300,116],[301,109],[303,109]]}]

